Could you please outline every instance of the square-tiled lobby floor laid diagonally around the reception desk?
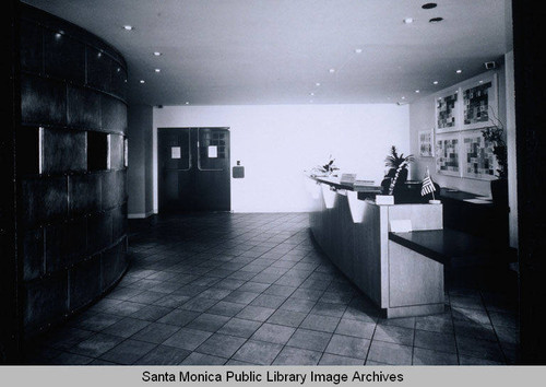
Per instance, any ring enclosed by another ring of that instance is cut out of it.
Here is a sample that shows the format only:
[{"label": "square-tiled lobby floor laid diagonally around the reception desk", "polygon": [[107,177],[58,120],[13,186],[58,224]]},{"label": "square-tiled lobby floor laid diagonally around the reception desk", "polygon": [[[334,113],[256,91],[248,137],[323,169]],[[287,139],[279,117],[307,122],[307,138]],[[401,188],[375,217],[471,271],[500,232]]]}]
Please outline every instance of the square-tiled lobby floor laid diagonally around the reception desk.
[{"label": "square-tiled lobby floor laid diagonally around the reception desk", "polygon": [[308,226],[305,213],[131,221],[132,263],[119,285],[34,342],[27,363],[517,363],[508,270],[450,280],[441,315],[383,319],[313,247]]}]

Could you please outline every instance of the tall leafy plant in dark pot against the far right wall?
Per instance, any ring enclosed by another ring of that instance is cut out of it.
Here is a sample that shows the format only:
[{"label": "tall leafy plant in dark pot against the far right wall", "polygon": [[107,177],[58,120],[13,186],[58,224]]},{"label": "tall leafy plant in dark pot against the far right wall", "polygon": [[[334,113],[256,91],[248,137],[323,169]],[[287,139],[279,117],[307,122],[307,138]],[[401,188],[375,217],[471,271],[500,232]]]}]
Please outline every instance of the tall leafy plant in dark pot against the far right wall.
[{"label": "tall leafy plant in dark pot against the far right wall", "polygon": [[499,119],[496,125],[482,130],[486,142],[492,144],[492,153],[497,159],[497,179],[491,180],[491,198],[495,206],[508,208],[508,149],[505,142],[505,128]]}]

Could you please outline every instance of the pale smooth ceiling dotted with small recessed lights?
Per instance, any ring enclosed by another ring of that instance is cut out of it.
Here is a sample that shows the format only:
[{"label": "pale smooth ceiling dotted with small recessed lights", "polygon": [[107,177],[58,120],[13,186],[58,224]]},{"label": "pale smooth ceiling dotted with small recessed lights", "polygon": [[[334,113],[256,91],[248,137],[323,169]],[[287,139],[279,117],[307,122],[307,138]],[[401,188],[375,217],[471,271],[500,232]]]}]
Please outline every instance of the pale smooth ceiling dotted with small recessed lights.
[{"label": "pale smooth ceiling dotted with small recessed lights", "polygon": [[411,102],[484,72],[511,47],[509,0],[24,2],[116,47],[132,104]]}]

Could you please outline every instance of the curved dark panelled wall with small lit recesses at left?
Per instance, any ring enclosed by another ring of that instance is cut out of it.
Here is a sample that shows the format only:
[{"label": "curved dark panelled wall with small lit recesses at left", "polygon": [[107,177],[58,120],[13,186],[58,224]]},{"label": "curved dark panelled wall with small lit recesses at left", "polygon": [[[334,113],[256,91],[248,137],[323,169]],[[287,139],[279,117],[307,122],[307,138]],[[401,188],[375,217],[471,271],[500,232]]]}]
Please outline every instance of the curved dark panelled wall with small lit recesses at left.
[{"label": "curved dark panelled wall with small lit recesses at left", "polygon": [[127,66],[82,28],[21,9],[17,239],[28,338],[127,269]]}]

